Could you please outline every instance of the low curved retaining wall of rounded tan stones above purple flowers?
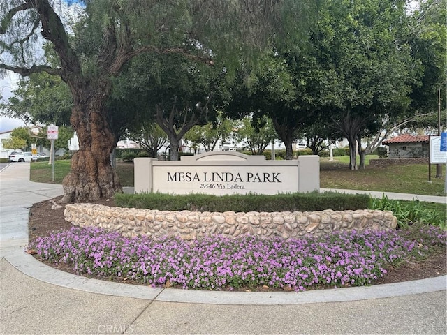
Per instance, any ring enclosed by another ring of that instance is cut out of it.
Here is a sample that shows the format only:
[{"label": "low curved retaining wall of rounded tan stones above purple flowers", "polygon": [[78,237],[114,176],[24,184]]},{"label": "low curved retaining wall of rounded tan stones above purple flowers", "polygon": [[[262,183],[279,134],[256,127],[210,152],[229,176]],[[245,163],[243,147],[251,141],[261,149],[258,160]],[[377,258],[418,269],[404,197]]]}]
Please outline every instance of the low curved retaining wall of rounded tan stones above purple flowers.
[{"label": "low curved retaining wall of rounded tan stones above purple flowers", "polygon": [[126,237],[179,236],[185,240],[215,234],[237,237],[254,234],[284,239],[328,234],[341,230],[393,230],[397,219],[391,211],[159,211],[108,207],[101,204],[67,204],[65,219],[80,227],[101,227],[121,232]]}]

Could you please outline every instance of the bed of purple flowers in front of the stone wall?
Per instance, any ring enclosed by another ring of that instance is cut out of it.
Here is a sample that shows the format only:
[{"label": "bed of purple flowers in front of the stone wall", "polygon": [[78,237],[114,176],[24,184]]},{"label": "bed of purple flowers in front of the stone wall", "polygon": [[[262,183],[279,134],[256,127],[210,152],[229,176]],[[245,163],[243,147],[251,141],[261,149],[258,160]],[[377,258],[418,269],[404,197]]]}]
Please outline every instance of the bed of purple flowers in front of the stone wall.
[{"label": "bed of purple flowers in front of the stone wall", "polygon": [[[153,286],[222,290],[268,285],[302,291],[319,285],[367,285],[386,274],[387,263],[445,246],[433,226],[408,231],[343,232],[324,238],[240,239],[210,237],[186,242],[129,239],[98,228],[72,228],[29,244],[45,261],[66,263],[80,275],[129,278]],[[421,237],[422,236],[422,237]]]}]

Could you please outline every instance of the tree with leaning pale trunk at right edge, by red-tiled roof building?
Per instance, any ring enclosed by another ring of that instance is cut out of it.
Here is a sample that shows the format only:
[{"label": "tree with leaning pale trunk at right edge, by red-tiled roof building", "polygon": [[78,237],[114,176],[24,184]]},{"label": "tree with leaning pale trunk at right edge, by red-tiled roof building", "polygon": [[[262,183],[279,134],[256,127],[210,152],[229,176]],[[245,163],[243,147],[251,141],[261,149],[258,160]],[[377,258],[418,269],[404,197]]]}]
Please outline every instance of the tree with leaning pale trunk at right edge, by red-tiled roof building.
[{"label": "tree with leaning pale trunk at right edge, by red-tiled roof building", "polygon": [[[417,5],[417,6],[416,6]],[[375,134],[367,128],[358,134],[358,154],[360,168],[365,166],[365,155],[372,153],[390,134],[409,129],[422,133],[437,133],[438,94],[446,101],[447,78],[447,1],[413,1],[416,10],[407,18],[409,24],[402,26],[402,40],[410,47],[413,65],[411,66],[411,91],[409,107],[397,110],[376,120]],[[445,104],[441,104],[441,113],[445,115]],[[446,119],[441,117],[441,127]],[[361,147],[363,139],[367,146]]]}]

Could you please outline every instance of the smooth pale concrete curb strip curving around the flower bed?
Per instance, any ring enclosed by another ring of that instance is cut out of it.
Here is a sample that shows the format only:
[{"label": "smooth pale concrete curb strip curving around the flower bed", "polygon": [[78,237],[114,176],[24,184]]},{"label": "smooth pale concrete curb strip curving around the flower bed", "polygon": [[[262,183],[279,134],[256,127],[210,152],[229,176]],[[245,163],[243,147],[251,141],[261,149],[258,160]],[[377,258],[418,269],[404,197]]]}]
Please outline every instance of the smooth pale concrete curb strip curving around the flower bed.
[{"label": "smooth pale concrete curb strip curving around the flower bed", "polygon": [[179,302],[191,304],[220,305],[295,305],[321,302],[358,301],[418,295],[447,289],[447,276],[353,288],[329,290],[309,290],[304,292],[228,292],[205,290],[182,290],[175,288],[152,288],[101,281],[69,274],[45,265],[23,248],[11,248],[4,258],[23,274],[38,281],[58,285],[73,290],[81,290],[100,295],[131,297],[152,301]]}]

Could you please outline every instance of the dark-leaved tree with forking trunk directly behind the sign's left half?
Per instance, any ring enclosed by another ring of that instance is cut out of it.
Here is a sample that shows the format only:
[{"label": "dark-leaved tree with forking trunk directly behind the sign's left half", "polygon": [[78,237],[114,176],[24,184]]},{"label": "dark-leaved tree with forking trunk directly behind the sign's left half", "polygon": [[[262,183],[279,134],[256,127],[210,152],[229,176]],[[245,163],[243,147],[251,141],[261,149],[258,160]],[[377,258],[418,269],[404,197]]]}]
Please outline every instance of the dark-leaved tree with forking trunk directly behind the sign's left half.
[{"label": "dark-leaved tree with forking trunk directly behind the sign's left half", "polygon": [[154,120],[166,133],[172,161],[178,159],[180,141],[193,126],[217,117],[214,96],[222,70],[179,54],[144,55],[134,59],[126,75],[133,78],[125,80],[127,91],[135,92],[133,98],[146,105],[142,118]]}]

